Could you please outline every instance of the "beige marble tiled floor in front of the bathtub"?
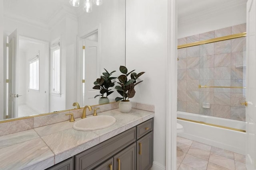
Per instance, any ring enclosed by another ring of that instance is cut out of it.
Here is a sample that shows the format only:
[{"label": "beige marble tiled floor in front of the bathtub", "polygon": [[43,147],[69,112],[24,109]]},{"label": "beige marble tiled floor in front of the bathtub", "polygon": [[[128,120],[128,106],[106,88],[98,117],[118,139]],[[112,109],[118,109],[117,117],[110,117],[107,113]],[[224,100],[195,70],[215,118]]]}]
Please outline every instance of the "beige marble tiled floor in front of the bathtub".
[{"label": "beige marble tiled floor in front of the bathtub", "polygon": [[246,170],[245,156],[177,136],[177,170]]}]

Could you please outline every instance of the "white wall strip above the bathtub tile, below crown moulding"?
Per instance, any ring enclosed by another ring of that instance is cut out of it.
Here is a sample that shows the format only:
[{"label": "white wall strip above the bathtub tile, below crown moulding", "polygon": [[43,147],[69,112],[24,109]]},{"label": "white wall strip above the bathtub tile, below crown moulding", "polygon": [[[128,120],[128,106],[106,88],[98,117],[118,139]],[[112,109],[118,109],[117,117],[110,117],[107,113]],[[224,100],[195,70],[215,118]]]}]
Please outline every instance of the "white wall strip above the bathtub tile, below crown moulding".
[{"label": "white wall strip above the bathtub tile, below crown moulding", "polygon": [[188,37],[216,29],[246,23],[246,4],[235,8],[225,8],[212,14],[178,20],[177,38]]}]

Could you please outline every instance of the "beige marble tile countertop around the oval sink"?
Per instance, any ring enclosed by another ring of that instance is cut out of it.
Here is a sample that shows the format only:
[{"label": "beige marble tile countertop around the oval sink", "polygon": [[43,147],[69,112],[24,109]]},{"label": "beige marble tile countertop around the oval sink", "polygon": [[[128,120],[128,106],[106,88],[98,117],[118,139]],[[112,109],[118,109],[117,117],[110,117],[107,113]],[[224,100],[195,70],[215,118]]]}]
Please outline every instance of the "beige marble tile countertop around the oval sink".
[{"label": "beige marble tile countertop around the oval sink", "polygon": [[154,117],[154,112],[132,109],[121,113],[113,109],[98,115],[111,115],[116,123],[105,129],[77,131],[74,122],[63,121],[1,136],[0,169],[46,169]]}]

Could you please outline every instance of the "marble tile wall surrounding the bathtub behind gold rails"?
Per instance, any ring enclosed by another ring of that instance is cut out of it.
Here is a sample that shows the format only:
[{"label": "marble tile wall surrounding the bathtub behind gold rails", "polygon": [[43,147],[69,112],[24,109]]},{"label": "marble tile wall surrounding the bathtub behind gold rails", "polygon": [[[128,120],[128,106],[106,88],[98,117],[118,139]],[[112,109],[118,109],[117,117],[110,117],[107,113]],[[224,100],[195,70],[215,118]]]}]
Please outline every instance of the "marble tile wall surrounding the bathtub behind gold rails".
[{"label": "marble tile wall surrounding the bathtub behind gold rails", "polygon": [[[246,23],[184,37],[178,45],[246,32]],[[178,49],[178,111],[245,121],[246,37]],[[209,103],[210,108],[203,108]]]}]

